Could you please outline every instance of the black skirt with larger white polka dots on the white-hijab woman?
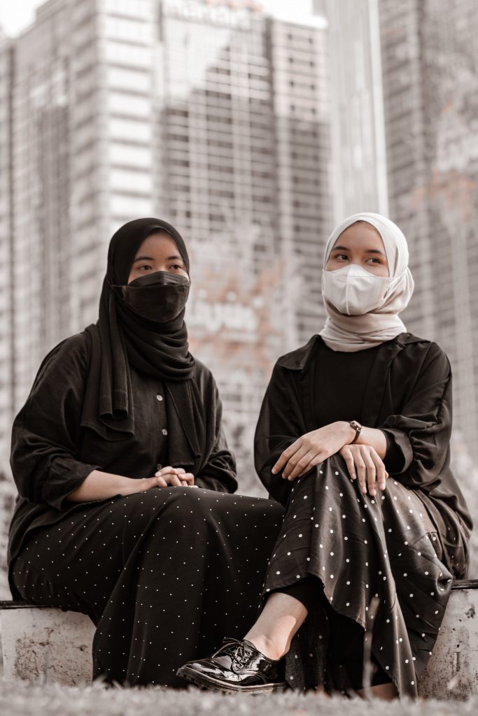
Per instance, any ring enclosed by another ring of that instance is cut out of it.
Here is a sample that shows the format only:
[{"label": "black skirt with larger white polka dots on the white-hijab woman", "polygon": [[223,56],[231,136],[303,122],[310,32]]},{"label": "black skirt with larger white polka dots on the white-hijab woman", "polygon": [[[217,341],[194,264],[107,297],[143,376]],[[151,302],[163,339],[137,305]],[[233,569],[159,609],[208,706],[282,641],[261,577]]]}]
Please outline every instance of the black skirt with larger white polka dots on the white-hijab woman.
[{"label": "black skirt with larger white polka dots on the white-hijab woman", "polygon": [[[465,536],[456,533],[454,539],[457,547]],[[295,480],[263,598],[312,575],[323,594],[317,590],[317,611],[292,641],[290,685],[309,689],[328,680],[332,688],[347,687],[334,677],[340,669],[331,668],[340,664],[330,664],[332,607],[363,627],[376,662],[401,695],[416,697],[449,599],[452,573],[446,564],[443,536],[418,491],[389,478],[384,493],[361,495],[340,455]],[[320,603],[323,595],[327,609]]]}]

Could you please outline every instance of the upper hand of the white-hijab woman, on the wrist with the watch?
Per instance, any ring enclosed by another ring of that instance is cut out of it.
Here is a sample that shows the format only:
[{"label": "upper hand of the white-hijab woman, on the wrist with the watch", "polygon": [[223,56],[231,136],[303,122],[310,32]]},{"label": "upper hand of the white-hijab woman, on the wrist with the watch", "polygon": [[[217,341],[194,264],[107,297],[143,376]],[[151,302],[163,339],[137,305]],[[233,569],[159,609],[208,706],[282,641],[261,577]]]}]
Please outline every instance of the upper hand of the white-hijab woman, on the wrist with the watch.
[{"label": "upper hand of the white-hijab woman, on the wrist with the watch", "polygon": [[285,480],[300,478],[330,455],[338,453],[350,440],[350,425],[340,420],[306,432],[284,450],[272,468],[272,474],[284,468],[282,478]]}]

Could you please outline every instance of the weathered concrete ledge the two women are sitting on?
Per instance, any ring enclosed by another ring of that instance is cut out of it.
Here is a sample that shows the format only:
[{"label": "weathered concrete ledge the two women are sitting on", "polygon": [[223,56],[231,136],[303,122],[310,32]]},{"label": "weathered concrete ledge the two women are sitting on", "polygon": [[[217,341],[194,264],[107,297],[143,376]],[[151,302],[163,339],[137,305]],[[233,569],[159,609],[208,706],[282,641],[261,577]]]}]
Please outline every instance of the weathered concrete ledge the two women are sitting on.
[{"label": "weathered concrete ledge the two women are sitting on", "polygon": [[[69,685],[90,682],[94,633],[85,614],[0,601],[4,679]],[[478,694],[478,580],[454,581],[419,693],[436,699]]]}]

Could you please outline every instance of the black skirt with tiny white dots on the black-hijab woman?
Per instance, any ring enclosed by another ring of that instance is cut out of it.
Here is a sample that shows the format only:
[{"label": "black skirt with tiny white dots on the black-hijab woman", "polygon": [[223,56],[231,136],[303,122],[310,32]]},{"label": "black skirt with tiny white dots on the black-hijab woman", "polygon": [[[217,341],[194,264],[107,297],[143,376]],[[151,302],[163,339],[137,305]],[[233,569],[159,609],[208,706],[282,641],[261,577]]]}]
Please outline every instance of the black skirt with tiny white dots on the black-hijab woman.
[{"label": "black skirt with tiny white dots on the black-hijab woman", "polygon": [[176,671],[257,616],[283,508],[192,488],[76,505],[11,566],[24,599],[89,614],[93,676],[186,687]]}]

